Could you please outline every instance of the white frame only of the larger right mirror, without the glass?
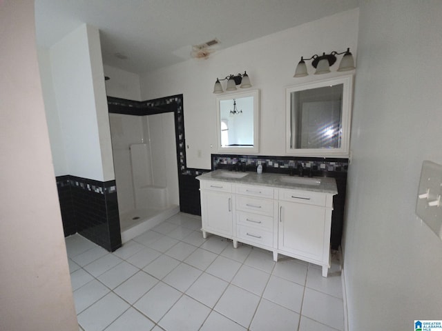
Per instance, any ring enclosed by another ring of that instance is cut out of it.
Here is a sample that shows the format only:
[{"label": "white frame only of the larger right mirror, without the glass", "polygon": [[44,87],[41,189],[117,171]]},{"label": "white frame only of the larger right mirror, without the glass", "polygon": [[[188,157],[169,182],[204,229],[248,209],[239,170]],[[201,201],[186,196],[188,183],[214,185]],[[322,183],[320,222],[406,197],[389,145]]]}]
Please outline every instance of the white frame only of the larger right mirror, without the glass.
[{"label": "white frame only of the larger right mirror, without the glass", "polygon": [[[343,84],[342,104],[342,134],[340,148],[291,148],[291,93],[325,86]],[[349,157],[350,126],[352,123],[353,74],[347,74],[331,79],[309,81],[285,89],[285,152],[289,155],[310,157]]]}]

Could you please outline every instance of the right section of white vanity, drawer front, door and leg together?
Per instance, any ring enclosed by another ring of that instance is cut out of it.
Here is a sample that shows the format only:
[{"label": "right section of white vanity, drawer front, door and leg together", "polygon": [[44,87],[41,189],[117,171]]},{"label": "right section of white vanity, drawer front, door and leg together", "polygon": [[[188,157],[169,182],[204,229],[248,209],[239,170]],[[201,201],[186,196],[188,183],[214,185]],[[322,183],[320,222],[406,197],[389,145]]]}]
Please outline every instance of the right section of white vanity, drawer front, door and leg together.
[{"label": "right section of white vanity, drawer front, door and leg together", "polygon": [[279,190],[278,252],[323,267],[327,277],[333,194]]}]

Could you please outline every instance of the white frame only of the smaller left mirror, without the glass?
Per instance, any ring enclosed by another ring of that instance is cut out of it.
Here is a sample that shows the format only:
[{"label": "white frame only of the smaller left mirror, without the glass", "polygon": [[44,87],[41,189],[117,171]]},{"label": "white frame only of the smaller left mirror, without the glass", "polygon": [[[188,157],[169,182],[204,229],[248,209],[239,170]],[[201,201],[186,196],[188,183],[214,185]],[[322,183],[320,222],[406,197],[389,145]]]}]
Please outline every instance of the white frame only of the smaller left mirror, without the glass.
[{"label": "white frame only of the smaller left mirror, without the glass", "polygon": [[[244,97],[253,97],[253,146],[221,146],[221,114],[220,114],[220,101],[240,99]],[[234,92],[219,96],[216,98],[216,146],[218,152],[222,154],[249,154],[257,153],[259,150],[259,128],[260,128],[260,91],[248,90],[244,92]]]}]

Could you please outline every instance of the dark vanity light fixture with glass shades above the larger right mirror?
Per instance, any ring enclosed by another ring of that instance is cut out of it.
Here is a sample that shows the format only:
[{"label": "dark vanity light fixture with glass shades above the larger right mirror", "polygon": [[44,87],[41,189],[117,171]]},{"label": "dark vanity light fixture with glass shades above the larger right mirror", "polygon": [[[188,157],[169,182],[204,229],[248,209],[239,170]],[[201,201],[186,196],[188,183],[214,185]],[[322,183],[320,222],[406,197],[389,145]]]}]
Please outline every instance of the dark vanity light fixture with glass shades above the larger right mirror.
[{"label": "dark vanity light fixture with glass shades above the larger right mirror", "polygon": [[353,55],[350,52],[350,49],[347,48],[345,52],[340,53],[333,51],[330,54],[314,54],[314,56],[309,59],[304,59],[304,57],[301,57],[301,61],[299,61],[298,66],[296,66],[294,77],[305,77],[308,75],[305,61],[309,60],[313,60],[311,62],[311,66],[316,68],[315,74],[326,74],[327,72],[330,72],[330,66],[333,66],[333,64],[336,62],[336,55],[340,54],[344,54],[344,56],[340,60],[338,71],[353,70],[355,68]]}]

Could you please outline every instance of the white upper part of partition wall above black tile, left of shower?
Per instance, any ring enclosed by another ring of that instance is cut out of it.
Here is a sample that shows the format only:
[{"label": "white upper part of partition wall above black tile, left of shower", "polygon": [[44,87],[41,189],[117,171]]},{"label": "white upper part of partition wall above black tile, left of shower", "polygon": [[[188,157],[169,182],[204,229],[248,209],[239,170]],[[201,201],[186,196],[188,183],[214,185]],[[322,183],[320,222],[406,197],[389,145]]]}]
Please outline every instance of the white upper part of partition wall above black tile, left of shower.
[{"label": "white upper part of partition wall above black tile, left of shower", "polygon": [[68,174],[114,179],[98,30],[81,25],[50,48],[50,63]]}]

